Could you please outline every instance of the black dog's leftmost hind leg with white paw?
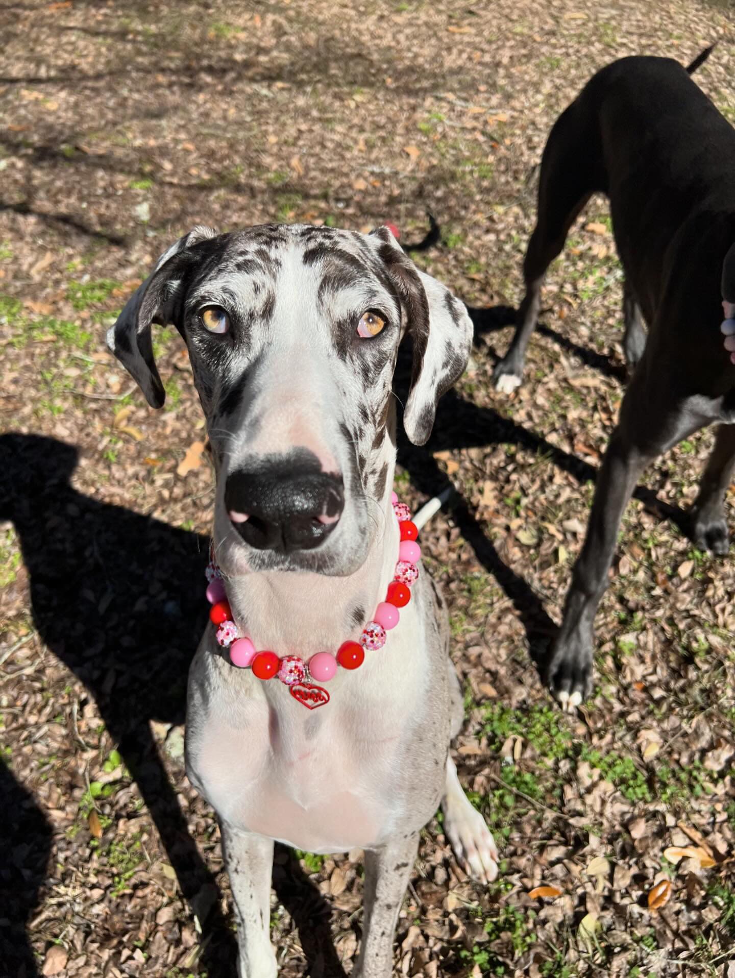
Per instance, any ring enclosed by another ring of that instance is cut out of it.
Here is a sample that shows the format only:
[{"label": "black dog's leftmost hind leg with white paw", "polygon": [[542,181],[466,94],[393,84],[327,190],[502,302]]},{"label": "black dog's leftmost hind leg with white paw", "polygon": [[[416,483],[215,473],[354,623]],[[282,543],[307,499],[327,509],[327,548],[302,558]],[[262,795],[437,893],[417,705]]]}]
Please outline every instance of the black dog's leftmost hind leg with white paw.
[{"label": "black dog's leftmost hind leg with white paw", "polygon": [[569,229],[595,189],[588,172],[589,148],[584,145],[584,126],[579,116],[577,105],[562,112],[543,151],[537,223],[523,262],[526,294],[508,352],[493,372],[497,389],[505,393],[521,382],[526,347],[539,319],[546,269],[564,247]]}]

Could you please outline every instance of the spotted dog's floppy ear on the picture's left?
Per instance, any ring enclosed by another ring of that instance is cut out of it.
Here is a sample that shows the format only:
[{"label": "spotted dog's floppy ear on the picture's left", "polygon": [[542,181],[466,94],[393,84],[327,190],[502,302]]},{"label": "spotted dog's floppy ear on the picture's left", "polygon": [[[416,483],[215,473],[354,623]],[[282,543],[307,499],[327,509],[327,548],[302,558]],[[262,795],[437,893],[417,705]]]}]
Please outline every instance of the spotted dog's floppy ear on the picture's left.
[{"label": "spotted dog's floppy ear on the picture's left", "polygon": [[108,347],[137,381],[151,408],[163,407],[166,392],[153,359],[151,323],[165,326],[180,281],[176,278],[187,249],[197,242],[216,238],[214,228],[198,225],[171,245],[155,263],[151,275],[136,289],[108,330]]}]

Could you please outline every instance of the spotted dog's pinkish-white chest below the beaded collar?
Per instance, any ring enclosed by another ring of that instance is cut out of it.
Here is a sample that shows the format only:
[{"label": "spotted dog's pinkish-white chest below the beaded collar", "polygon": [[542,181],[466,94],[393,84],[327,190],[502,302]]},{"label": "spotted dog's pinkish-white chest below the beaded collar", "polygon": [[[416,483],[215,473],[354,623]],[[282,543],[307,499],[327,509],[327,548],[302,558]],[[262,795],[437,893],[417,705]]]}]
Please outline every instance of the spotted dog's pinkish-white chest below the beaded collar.
[{"label": "spotted dog's pinkish-white chest below the beaded collar", "polygon": [[340,698],[308,711],[285,696],[276,708],[258,697],[190,731],[192,776],[218,814],[310,852],[388,836],[403,804],[396,781],[410,713]]}]

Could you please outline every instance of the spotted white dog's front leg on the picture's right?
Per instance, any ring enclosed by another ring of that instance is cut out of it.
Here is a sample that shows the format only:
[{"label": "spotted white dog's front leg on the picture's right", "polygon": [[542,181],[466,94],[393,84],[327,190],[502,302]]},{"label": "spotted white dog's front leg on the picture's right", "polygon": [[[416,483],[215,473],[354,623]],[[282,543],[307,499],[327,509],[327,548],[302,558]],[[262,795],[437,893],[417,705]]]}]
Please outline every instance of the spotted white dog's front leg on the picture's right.
[{"label": "spotted white dog's front leg on the picture's right", "polygon": [[393,974],[393,936],[417,848],[418,832],[410,832],[366,851],[365,926],[354,978],[390,978]]}]

